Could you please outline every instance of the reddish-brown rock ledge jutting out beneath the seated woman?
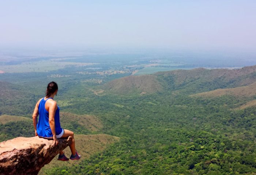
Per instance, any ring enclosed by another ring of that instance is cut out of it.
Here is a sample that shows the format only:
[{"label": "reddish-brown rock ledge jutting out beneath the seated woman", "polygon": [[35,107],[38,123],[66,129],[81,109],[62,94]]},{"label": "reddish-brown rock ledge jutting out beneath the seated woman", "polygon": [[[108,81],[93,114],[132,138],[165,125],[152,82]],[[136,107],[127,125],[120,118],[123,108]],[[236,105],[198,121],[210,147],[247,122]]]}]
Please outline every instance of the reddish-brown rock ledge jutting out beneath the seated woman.
[{"label": "reddish-brown rock ledge jutting out beneath the seated woman", "polygon": [[72,137],[53,140],[40,137],[17,137],[0,143],[0,175],[38,174],[50,161],[72,142]]}]

